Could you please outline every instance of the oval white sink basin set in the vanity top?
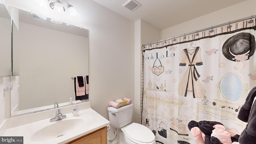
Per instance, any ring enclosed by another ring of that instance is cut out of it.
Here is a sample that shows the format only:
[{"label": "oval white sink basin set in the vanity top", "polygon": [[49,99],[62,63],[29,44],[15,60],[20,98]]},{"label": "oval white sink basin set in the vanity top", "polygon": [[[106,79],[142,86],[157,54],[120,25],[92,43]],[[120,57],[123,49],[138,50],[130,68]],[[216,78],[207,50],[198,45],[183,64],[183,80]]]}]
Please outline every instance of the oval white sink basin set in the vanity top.
[{"label": "oval white sink basin set in the vanity top", "polygon": [[[46,126],[31,136],[32,141],[44,141],[51,140],[64,136],[66,134],[72,134],[77,129],[81,128],[88,121],[84,119],[62,119],[53,122],[53,124]],[[50,122],[49,122],[50,123]]]}]

